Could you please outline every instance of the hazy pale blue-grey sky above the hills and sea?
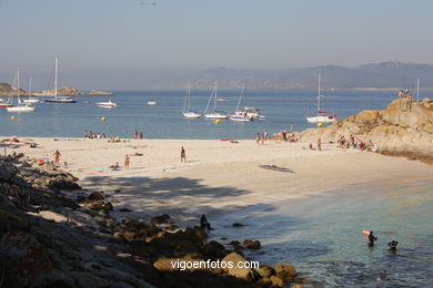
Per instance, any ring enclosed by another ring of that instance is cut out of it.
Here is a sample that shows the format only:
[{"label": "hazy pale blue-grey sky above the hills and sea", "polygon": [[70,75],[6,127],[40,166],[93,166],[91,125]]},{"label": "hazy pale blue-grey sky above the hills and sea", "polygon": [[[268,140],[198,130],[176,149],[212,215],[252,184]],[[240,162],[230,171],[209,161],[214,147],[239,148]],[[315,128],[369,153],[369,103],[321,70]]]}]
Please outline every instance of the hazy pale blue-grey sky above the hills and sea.
[{"label": "hazy pale blue-grey sky above the hills and sea", "polygon": [[[157,2],[157,6],[141,3]],[[215,66],[433,64],[431,0],[0,0],[0,82],[143,89]]]}]

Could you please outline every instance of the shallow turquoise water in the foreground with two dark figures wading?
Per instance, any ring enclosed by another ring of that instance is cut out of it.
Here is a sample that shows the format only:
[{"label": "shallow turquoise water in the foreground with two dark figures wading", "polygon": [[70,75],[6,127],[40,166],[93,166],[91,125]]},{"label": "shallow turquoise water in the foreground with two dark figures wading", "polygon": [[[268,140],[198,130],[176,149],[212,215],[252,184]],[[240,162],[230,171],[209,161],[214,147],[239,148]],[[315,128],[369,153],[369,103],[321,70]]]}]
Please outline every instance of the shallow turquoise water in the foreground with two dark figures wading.
[{"label": "shallow turquoise water in the foreground with two dark figures wading", "polygon": [[[260,239],[246,256],[291,263],[319,287],[433,287],[433,183],[259,205],[212,222],[213,237]],[[374,247],[364,229],[379,237]]]}]

